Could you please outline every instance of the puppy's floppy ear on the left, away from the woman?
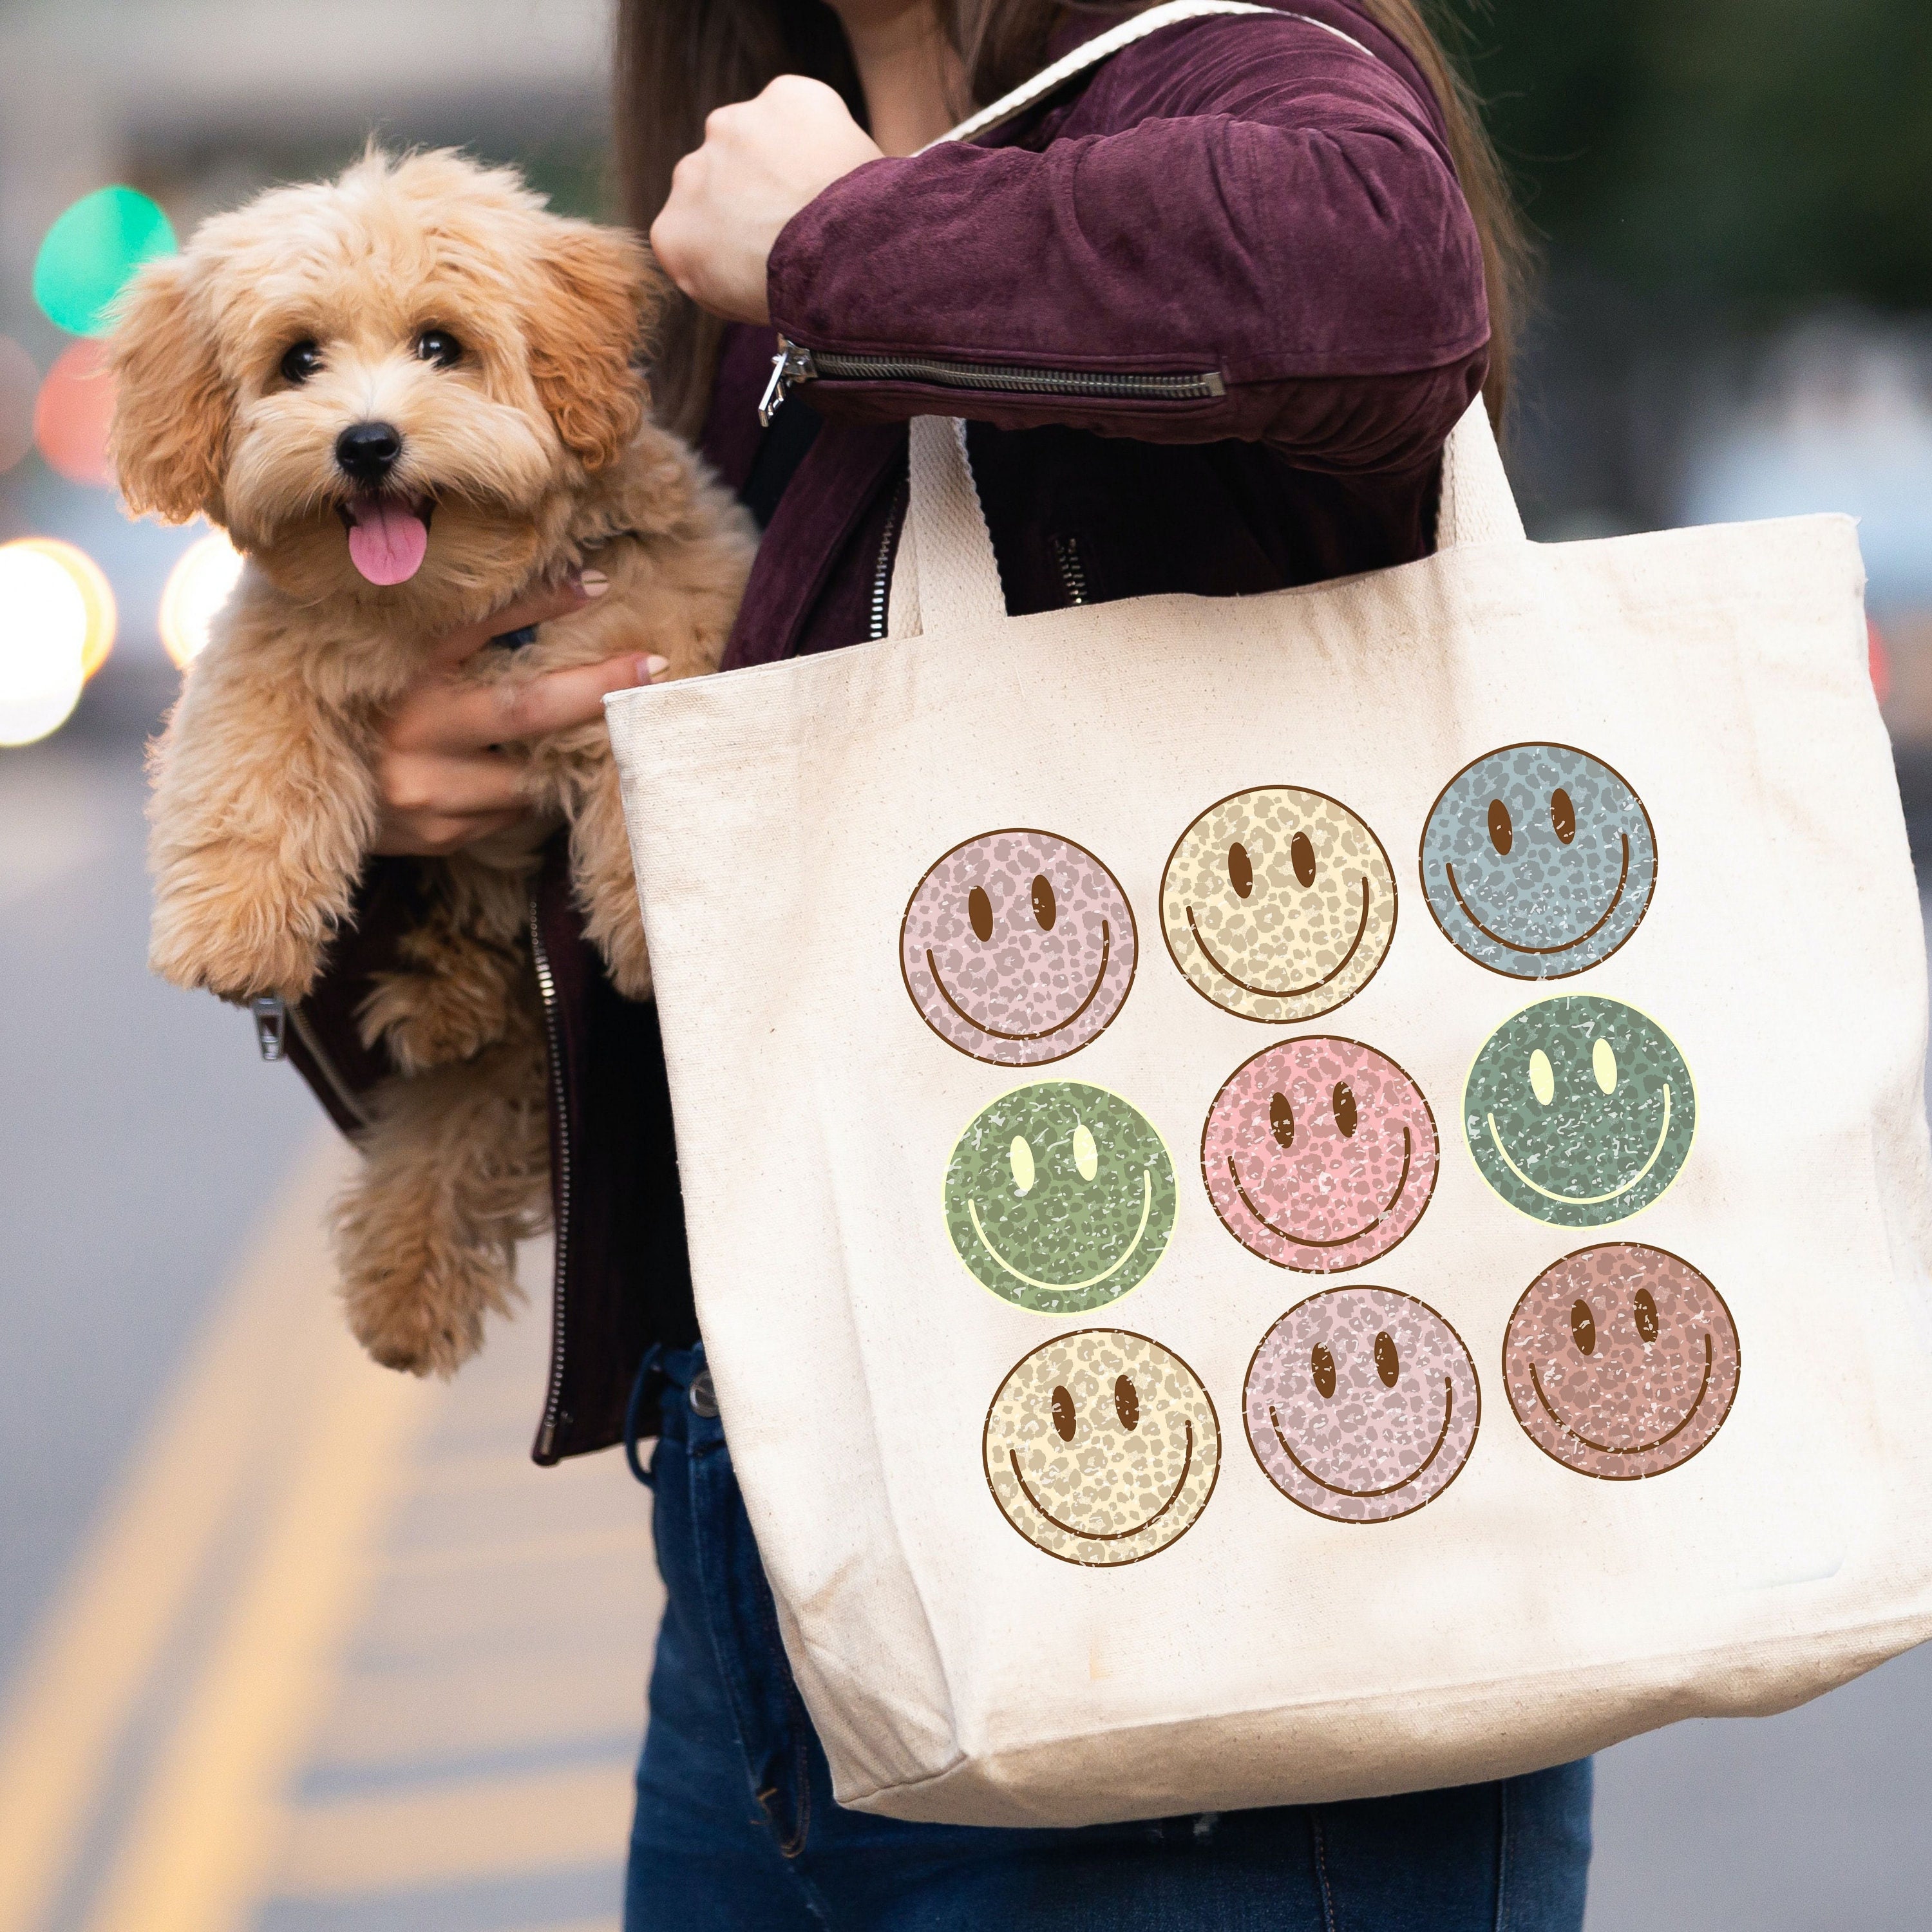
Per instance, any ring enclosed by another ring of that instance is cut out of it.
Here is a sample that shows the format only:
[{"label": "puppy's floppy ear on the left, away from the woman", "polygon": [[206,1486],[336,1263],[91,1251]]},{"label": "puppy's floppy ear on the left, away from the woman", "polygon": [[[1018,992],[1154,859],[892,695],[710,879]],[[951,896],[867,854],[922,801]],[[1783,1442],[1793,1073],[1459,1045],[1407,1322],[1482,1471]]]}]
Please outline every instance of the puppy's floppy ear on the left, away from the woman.
[{"label": "puppy's floppy ear on the left, away from the woman", "polygon": [[232,402],[180,255],[149,263],[135,276],[122,298],[108,359],[108,450],[128,508],[153,510],[168,524],[218,512]]}]

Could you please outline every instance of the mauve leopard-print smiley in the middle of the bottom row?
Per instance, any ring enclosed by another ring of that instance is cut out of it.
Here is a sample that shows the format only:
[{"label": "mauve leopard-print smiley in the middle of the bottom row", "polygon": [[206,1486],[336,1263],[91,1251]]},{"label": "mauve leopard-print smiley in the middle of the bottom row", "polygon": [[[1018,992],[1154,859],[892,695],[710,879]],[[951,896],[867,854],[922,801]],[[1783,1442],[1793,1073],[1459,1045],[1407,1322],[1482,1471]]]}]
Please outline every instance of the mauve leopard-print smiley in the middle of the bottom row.
[{"label": "mauve leopard-print smiley in the middle of the bottom row", "polygon": [[1242,1391],[1248,1447],[1291,1501],[1389,1522],[1463,1472],[1482,1422],[1476,1364],[1428,1302],[1327,1289],[1264,1337]]}]

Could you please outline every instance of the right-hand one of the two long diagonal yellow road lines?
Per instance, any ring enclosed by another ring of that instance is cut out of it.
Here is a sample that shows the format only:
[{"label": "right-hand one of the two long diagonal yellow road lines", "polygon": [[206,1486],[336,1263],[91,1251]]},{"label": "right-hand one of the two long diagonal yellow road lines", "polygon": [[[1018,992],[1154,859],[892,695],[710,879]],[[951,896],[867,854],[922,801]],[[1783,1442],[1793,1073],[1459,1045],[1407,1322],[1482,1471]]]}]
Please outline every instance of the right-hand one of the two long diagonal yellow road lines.
[{"label": "right-hand one of the two long diagonal yellow road lines", "polygon": [[162,1748],[87,1932],[236,1932],[259,1901],[282,1795],[375,1567],[439,1389],[371,1366],[325,1298],[299,1449],[214,1652]]}]

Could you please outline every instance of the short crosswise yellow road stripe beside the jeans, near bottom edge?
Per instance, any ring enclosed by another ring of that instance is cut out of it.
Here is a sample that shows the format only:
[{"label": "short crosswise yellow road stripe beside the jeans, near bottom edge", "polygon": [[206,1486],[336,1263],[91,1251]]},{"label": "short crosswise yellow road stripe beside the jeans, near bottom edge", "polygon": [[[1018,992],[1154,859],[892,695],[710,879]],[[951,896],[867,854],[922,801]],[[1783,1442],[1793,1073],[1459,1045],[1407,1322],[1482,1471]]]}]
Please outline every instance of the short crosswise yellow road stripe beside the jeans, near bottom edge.
[{"label": "short crosswise yellow road stripe beside the jeans, near bottom edge", "polygon": [[614,1866],[630,1812],[628,1762],[336,1799],[292,1816],[276,1891],[346,1897]]}]

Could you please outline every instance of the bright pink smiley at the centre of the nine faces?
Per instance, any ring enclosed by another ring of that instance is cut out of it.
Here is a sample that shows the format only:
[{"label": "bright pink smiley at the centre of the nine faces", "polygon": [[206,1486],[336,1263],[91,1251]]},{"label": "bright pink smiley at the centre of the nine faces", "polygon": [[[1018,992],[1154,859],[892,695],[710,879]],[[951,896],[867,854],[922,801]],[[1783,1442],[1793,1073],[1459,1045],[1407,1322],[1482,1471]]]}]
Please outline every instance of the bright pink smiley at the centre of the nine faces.
[{"label": "bright pink smiley at the centre of the nine faces", "polygon": [[1202,1130],[1227,1231],[1304,1275],[1387,1254],[1422,1219],[1441,1148],[1422,1088],[1385,1053],[1318,1034],[1229,1074]]}]

